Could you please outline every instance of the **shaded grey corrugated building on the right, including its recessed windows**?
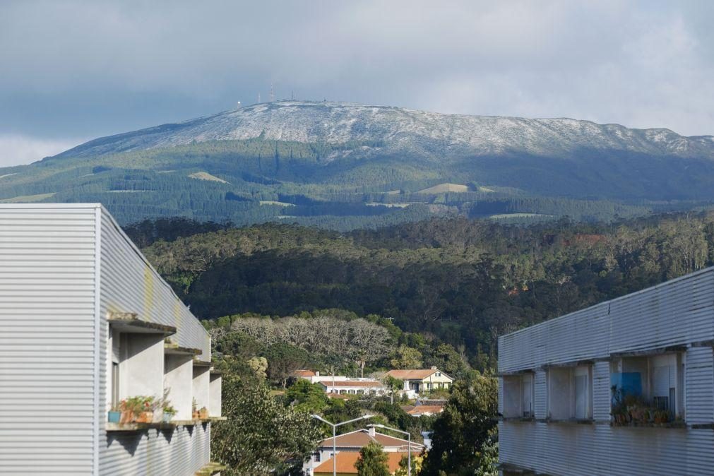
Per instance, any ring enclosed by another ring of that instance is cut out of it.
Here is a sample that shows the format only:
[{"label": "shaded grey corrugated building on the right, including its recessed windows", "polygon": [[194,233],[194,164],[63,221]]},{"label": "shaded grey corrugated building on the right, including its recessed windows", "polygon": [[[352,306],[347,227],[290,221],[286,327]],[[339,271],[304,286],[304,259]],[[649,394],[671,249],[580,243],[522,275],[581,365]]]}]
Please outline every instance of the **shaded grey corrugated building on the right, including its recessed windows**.
[{"label": "shaded grey corrugated building on the right, including its recessed windows", "polygon": [[501,473],[714,474],[714,268],[498,340]]}]

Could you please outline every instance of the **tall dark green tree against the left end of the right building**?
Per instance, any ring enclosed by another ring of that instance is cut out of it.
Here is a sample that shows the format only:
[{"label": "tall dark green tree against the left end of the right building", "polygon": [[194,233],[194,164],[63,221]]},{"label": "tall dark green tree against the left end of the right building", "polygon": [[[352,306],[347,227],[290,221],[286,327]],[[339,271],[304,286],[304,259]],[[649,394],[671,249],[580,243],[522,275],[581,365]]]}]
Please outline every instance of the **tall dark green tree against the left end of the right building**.
[{"label": "tall dark green tree against the left end of the right building", "polygon": [[493,448],[483,449],[493,439],[497,412],[498,380],[493,374],[473,373],[457,381],[434,422],[421,476],[473,475],[483,462],[492,461]]}]

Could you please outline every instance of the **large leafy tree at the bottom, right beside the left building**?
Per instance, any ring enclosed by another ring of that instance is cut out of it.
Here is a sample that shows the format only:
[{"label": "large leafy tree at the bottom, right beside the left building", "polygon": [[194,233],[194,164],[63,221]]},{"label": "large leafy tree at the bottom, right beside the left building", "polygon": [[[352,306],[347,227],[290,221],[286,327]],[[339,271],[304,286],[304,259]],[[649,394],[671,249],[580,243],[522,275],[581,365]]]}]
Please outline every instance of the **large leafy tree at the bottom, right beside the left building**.
[{"label": "large leafy tree at the bottom, right beside the left building", "polygon": [[211,457],[228,476],[285,474],[316,449],[321,431],[306,412],[281,405],[257,378],[224,375],[223,415],[211,428]]}]

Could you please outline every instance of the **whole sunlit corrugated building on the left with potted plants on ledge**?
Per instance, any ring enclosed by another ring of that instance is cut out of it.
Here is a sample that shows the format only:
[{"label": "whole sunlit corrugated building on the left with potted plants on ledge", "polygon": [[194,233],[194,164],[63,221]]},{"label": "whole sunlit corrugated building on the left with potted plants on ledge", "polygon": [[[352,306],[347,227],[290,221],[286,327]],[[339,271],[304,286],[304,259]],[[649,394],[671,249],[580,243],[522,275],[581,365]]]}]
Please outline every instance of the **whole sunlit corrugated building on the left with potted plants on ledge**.
[{"label": "whole sunlit corrugated building on the left with potted plants on ledge", "polygon": [[[0,321],[0,473],[216,473],[208,333],[100,205],[0,204]],[[166,391],[171,422],[108,422]]]}]

